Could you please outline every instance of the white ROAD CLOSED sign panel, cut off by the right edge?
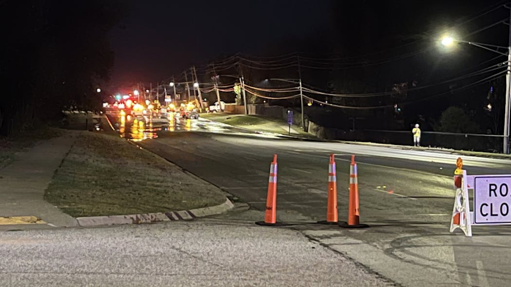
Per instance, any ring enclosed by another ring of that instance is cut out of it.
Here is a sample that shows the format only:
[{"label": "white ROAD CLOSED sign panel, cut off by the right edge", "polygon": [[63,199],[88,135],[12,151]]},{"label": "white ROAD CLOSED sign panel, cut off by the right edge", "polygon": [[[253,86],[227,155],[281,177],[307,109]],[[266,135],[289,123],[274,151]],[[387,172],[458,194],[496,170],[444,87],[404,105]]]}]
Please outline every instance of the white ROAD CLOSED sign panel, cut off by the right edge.
[{"label": "white ROAD CLOSED sign panel, cut off by the right edge", "polygon": [[475,176],[474,223],[511,224],[511,177]]}]

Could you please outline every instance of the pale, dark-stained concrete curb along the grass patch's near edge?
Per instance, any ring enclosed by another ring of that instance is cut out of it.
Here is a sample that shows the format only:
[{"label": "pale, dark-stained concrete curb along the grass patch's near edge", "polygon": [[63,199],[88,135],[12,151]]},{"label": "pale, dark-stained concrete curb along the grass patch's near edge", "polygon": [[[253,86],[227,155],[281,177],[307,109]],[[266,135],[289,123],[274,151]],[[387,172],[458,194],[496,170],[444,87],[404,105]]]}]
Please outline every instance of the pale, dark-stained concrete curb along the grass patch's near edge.
[{"label": "pale, dark-stained concrete curb along the grass patch's near edge", "polygon": [[206,206],[190,210],[128,214],[119,216],[93,216],[78,217],[78,225],[82,227],[100,226],[100,225],[123,225],[123,224],[141,224],[175,220],[191,220],[194,218],[211,216],[223,213],[232,209],[234,204],[226,199],[224,203],[215,206]]}]

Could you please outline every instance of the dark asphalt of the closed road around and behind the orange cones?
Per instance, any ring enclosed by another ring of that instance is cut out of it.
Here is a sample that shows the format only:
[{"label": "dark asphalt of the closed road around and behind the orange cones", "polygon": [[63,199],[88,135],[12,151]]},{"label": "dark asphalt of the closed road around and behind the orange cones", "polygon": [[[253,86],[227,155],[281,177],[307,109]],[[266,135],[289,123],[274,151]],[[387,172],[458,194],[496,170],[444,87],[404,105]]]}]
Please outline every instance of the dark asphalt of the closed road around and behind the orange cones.
[{"label": "dark asphalt of the closed road around and behind the orange cones", "polygon": [[[457,155],[279,139],[202,119],[190,125],[195,128],[182,125],[179,130],[189,132],[154,131],[157,138],[139,143],[252,207],[211,220],[263,220],[269,163],[277,154],[277,219],[292,224],[286,228],[299,229],[398,284],[494,286],[511,279],[506,226],[475,226],[472,238],[449,233]],[[339,220],[347,216],[349,162],[355,154],[361,222],[370,228],[315,224],[326,216],[330,153],[337,158]],[[511,174],[509,160],[462,158],[469,174]]]}]

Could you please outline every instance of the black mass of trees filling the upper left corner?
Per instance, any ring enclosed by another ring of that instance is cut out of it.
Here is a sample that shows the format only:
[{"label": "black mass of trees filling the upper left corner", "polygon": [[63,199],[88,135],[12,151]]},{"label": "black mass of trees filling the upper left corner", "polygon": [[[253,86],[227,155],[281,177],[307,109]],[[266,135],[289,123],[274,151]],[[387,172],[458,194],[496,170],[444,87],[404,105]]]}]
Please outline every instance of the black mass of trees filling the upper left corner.
[{"label": "black mass of trees filling the upper left corner", "polygon": [[0,1],[0,133],[58,119],[64,106],[99,109],[113,53],[117,1]]}]

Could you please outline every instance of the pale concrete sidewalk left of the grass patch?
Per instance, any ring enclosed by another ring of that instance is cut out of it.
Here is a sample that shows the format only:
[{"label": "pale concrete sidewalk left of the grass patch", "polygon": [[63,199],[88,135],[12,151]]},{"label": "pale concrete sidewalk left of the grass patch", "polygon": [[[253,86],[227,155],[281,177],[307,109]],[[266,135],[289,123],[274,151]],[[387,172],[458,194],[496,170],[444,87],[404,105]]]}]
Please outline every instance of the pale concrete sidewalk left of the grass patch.
[{"label": "pale concrete sidewalk left of the grass patch", "polygon": [[35,216],[59,226],[77,226],[76,219],[43,199],[44,190],[81,132],[38,143],[0,170],[0,217]]}]

